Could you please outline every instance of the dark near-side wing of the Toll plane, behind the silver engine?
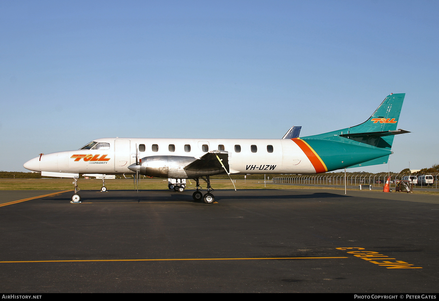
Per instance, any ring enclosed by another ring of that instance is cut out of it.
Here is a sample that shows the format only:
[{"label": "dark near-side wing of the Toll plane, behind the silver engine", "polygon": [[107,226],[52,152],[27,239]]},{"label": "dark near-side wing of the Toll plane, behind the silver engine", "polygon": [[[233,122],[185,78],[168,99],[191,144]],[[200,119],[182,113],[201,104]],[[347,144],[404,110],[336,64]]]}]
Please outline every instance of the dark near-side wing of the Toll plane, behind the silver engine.
[{"label": "dark near-side wing of the Toll plane, behind the silver engine", "polygon": [[200,159],[195,160],[192,163],[189,163],[184,167],[184,170],[191,171],[214,171],[214,170],[222,170],[225,173],[221,162],[219,162],[218,158],[222,160],[221,162],[226,167],[227,172],[230,172],[229,168],[229,153],[222,150],[214,150],[206,153]]}]

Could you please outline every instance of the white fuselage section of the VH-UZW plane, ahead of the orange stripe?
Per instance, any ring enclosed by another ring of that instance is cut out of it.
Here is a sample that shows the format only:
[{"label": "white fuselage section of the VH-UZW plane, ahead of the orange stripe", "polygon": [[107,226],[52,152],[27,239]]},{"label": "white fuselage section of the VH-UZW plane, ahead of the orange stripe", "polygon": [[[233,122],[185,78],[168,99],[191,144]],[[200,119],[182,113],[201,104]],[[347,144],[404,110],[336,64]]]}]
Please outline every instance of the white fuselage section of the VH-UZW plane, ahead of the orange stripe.
[{"label": "white fuselage section of the VH-UZW plane, ahead of the orange stripe", "polygon": [[100,138],[94,141],[108,143],[109,148],[54,152],[29,160],[24,167],[58,173],[132,174],[128,166],[136,162],[136,151],[139,159],[148,156],[199,159],[208,151],[221,149],[229,152],[231,174],[316,173],[308,157],[291,139]]}]

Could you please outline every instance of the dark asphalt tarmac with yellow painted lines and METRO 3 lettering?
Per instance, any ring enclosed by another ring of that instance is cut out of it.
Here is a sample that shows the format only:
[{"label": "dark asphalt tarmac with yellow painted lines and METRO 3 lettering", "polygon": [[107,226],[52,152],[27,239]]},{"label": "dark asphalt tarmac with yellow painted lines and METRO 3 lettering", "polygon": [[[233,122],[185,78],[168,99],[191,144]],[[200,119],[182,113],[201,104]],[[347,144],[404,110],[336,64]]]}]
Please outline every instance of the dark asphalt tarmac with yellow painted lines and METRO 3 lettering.
[{"label": "dark asphalt tarmac with yellow painted lines and METRO 3 lettering", "polygon": [[0,290],[438,292],[438,196],[193,192],[0,191]]}]

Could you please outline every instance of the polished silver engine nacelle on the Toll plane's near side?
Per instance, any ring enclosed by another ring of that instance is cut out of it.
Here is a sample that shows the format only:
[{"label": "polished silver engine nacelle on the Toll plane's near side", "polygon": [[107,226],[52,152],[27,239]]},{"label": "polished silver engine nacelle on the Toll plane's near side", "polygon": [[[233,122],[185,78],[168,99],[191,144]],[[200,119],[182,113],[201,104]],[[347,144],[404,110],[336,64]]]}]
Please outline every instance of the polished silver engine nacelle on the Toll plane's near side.
[{"label": "polished silver engine nacelle on the Toll plane's near side", "polygon": [[156,178],[188,178],[183,169],[197,160],[185,156],[149,156],[142,158],[140,174]]}]

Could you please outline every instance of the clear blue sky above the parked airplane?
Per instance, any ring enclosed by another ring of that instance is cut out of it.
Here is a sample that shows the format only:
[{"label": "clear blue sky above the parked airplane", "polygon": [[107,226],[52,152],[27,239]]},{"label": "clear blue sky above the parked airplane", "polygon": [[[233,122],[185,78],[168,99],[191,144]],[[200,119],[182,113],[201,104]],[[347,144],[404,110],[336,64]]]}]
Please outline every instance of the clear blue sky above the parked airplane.
[{"label": "clear blue sky above the parked airplane", "polygon": [[[406,93],[390,169],[439,163],[436,1],[1,1],[0,170],[102,137],[281,138]],[[378,172],[386,165],[364,167]],[[352,171],[358,169],[351,169]]]}]

